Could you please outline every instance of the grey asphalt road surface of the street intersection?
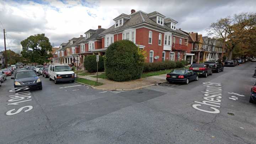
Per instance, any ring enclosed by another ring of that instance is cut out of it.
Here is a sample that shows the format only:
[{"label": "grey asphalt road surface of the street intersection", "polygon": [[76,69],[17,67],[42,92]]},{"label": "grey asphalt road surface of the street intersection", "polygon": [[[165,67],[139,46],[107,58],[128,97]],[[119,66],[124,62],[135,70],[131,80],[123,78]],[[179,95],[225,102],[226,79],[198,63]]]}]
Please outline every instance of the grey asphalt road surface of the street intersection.
[{"label": "grey asphalt road surface of the street intersection", "polygon": [[24,99],[11,98],[9,76],[0,87],[0,143],[256,143],[256,105],[249,103],[255,66],[125,92],[40,76],[43,90]]}]

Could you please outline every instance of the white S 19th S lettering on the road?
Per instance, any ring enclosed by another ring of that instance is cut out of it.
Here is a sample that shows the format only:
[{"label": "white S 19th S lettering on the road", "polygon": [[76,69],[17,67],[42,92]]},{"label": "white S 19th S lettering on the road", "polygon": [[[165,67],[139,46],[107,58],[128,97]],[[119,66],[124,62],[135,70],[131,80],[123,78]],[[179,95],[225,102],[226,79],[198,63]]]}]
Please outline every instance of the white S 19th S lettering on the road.
[{"label": "white S 19th S lettering on the road", "polygon": [[[21,87],[21,88],[15,88],[15,89],[10,90],[9,92],[17,92],[17,93],[15,93],[15,95],[9,96],[11,99],[8,100],[8,102],[11,102],[11,103],[8,103],[7,105],[19,105],[22,102],[31,101],[32,100],[32,99],[30,99],[31,92],[25,91],[28,89],[29,89],[28,87]],[[18,91],[22,91],[22,92],[18,92]],[[15,111],[16,109],[14,108],[14,109],[7,111],[5,114],[7,116],[12,116],[12,115],[20,113],[23,109],[24,109],[24,112],[28,112],[33,109],[33,106],[23,106],[23,107],[18,108],[17,111]]]}]

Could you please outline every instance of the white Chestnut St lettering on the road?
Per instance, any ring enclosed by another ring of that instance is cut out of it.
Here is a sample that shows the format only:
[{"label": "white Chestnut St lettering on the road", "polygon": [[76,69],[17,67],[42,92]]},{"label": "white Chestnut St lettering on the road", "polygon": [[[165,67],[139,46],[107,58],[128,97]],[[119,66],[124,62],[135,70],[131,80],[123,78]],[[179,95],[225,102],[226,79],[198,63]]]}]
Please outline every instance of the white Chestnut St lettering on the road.
[{"label": "white Chestnut St lettering on the road", "polygon": [[[196,110],[207,112],[207,113],[220,113],[220,103],[222,98],[222,85],[221,83],[215,83],[215,82],[203,82],[204,86],[206,87],[205,91],[201,91],[204,93],[203,99],[206,101],[198,102],[194,101],[195,103],[199,104],[193,104],[192,107]],[[213,111],[204,110],[201,108],[202,105],[211,106],[209,107]]]}]

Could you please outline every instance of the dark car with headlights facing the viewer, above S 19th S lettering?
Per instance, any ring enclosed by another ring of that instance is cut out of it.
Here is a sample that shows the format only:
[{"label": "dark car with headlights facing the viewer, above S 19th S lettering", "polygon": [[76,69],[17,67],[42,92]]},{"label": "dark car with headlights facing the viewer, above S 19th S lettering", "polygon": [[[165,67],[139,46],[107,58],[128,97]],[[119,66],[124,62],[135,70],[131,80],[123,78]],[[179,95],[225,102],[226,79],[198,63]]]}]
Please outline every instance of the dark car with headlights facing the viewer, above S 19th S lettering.
[{"label": "dark car with headlights facing the viewer, above S 19th S lettering", "polygon": [[42,90],[42,82],[33,70],[18,70],[14,78],[14,87],[36,88]]}]

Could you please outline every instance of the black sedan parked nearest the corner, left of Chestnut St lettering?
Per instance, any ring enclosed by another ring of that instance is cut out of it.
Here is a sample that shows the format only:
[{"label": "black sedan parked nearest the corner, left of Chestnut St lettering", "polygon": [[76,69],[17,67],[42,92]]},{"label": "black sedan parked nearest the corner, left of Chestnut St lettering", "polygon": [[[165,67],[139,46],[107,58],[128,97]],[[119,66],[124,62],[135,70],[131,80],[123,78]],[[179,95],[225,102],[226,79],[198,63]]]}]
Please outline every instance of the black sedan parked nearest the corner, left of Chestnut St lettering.
[{"label": "black sedan parked nearest the corner, left of Chestnut St lettering", "polygon": [[168,82],[185,82],[188,84],[192,80],[198,80],[198,74],[193,70],[188,69],[174,69],[171,73],[166,75]]}]

